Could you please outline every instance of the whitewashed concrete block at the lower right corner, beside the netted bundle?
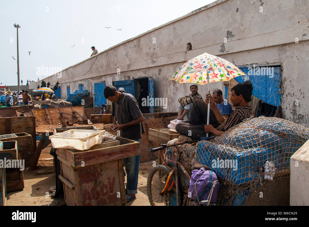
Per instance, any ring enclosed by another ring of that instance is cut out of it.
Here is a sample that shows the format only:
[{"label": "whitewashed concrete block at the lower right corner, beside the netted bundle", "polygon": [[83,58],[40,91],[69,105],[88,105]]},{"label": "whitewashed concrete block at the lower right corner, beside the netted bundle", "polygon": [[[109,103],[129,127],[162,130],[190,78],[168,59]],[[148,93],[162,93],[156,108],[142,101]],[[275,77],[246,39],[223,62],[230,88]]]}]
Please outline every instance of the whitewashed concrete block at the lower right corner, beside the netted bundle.
[{"label": "whitewashed concrete block at the lower right corner, beside the netted bundle", "polygon": [[290,160],[290,205],[309,206],[309,140]]}]

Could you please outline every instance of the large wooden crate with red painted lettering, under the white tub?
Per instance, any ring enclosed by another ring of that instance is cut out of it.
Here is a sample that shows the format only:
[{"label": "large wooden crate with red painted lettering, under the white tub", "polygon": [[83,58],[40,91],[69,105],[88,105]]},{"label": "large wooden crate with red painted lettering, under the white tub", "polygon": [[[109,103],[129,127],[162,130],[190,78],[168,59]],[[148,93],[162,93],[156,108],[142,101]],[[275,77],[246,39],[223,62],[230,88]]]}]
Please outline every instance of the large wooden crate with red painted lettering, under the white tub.
[{"label": "large wooden crate with red painted lettering, under the white tub", "polygon": [[125,173],[122,158],[139,154],[139,143],[121,137],[89,150],[56,149],[67,205],[122,205]]}]

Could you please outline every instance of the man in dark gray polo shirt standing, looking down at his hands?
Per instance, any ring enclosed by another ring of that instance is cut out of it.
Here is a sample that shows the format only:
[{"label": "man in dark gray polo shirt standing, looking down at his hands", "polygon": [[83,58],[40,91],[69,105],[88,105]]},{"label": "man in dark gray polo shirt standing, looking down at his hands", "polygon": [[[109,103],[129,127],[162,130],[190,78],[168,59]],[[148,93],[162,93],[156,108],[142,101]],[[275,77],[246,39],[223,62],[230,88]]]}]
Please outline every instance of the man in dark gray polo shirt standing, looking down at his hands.
[{"label": "man in dark gray polo shirt standing, looking down at his hands", "polygon": [[[115,116],[110,130],[114,132],[120,130],[121,137],[138,141],[140,144],[139,155],[123,159],[127,173],[126,198],[127,202],[131,202],[137,193],[141,138],[145,132],[142,124],[144,118],[133,95],[117,91],[114,86],[106,86],[104,97],[112,102],[112,116]],[[119,125],[116,125],[116,121]]]}]

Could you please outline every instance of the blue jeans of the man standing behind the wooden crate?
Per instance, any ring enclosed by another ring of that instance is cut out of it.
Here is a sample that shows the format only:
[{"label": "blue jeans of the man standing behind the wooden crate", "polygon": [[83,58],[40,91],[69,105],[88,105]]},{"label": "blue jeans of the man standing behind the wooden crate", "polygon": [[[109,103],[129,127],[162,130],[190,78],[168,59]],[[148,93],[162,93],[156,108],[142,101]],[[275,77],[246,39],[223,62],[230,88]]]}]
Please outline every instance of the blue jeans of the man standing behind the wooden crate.
[{"label": "blue jeans of the man standing behind the wooden crate", "polygon": [[138,183],[138,170],[139,170],[139,158],[141,156],[141,138],[136,140],[139,142],[139,154],[123,158],[125,163],[125,172],[127,173],[127,186],[128,194],[137,194]]}]

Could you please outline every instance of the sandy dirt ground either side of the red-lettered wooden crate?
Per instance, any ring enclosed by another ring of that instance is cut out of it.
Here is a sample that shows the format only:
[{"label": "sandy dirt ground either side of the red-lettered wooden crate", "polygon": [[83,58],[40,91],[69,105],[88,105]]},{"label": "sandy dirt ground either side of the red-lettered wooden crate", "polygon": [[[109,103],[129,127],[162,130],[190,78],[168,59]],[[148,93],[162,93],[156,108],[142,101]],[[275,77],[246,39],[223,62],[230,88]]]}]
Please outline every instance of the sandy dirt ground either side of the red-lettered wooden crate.
[{"label": "sandy dirt ground either side of the red-lettered wooden crate", "polygon": [[[38,170],[53,171],[53,161],[40,161],[42,158],[53,158],[49,154],[50,146],[46,147],[40,155],[36,170],[24,170],[24,189],[7,193],[7,206],[62,206],[66,205],[64,197],[53,198],[49,189],[56,185],[56,175],[54,172],[38,174]],[[158,160],[155,160],[158,162]],[[150,206],[147,196],[147,177],[153,168],[153,161],[143,162],[139,165],[138,174],[138,194],[136,199],[126,206]],[[126,177],[125,177],[126,181]]]}]

